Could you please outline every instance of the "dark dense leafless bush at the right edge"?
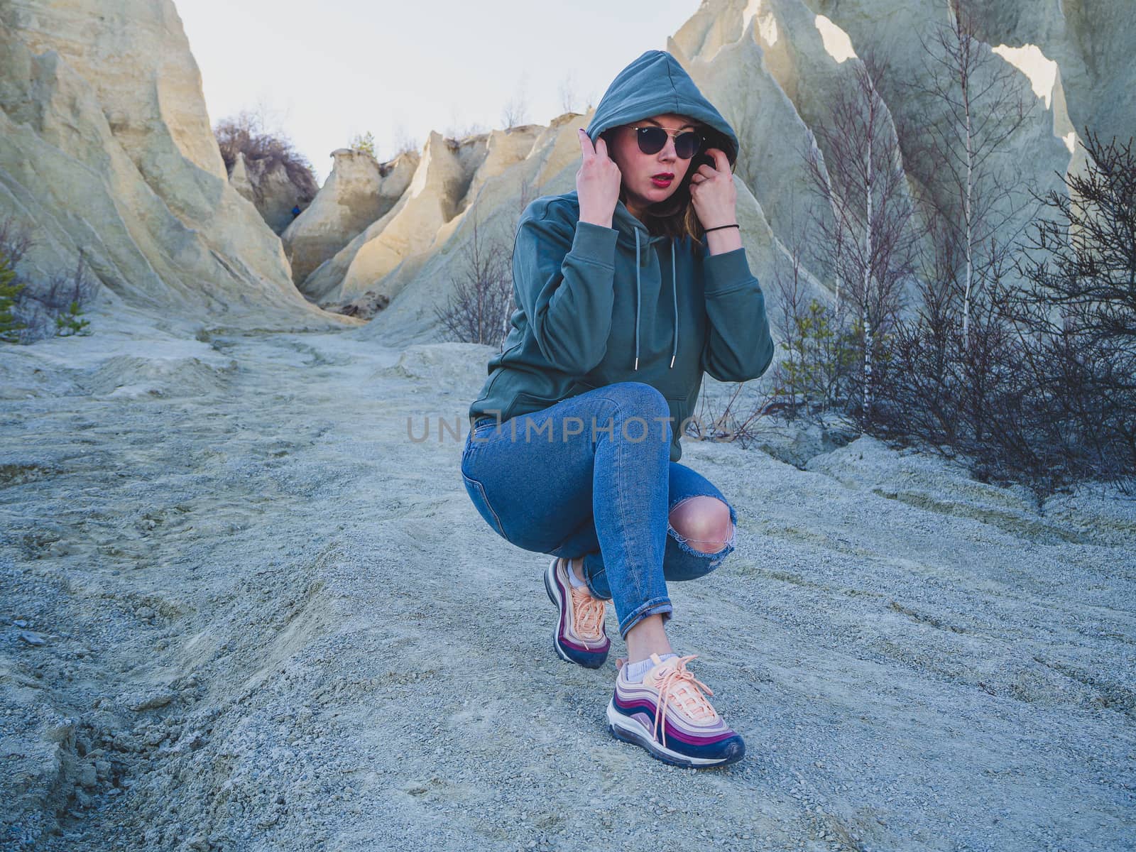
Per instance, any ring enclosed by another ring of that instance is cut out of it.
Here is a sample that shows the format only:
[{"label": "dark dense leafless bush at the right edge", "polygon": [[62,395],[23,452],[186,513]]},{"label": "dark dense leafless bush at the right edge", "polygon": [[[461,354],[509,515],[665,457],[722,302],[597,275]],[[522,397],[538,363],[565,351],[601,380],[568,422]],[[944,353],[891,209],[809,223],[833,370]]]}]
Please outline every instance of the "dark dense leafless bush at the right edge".
[{"label": "dark dense leafless bush at the right edge", "polygon": [[1036,392],[1027,425],[1060,448],[1075,477],[1133,488],[1136,476],[1136,152],[1085,128],[1085,174],[1068,193],[1034,198],[1038,218],[1016,269],[1028,284],[999,291],[1018,325]]}]

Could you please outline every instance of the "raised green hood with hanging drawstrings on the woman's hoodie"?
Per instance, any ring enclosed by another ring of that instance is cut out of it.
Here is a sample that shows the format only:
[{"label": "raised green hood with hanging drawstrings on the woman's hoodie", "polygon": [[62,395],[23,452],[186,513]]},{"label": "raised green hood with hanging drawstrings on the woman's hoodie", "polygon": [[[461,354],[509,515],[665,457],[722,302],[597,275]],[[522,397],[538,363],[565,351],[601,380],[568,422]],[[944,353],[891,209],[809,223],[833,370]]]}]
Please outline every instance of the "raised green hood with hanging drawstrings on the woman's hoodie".
[{"label": "raised green hood with hanging drawstrings on the woman's hoodie", "polygon": [[[629,124],[641,118],[665,112],[690,116],[695,122],[709,126],[717,132],[718,137],[713,140],[712,147],[720,147],[729,159],[733,169],[737,161],[738,142],[734,128],[715,109],[699,87],[691,80],[682,65],[674,56],[666,50],[649,50],[642,53],[635,61],[624,68],[611,85],[603,93],[600,103],[595,108],[595,115],[585,131],[594,145],[600,134],[609,127],[618,127]],[[650,249],[660,240],[670,242],[670,274],[671,292],[675,293],[675,326],[674,343],[671,345],[670,366],[675,366],[675,358],[678,354],[678,296],[677,282],[675,281],[675,241],[666,236],[651,236],[646,226],[640,222],[624,204],[623,201],[616,203],[616,210],[611,219],[612,227],[620,234],[634,233],[635,237],[635,369],[638,369],[640,354],[640,268],[642,266],[641,244],[645,243]]]}]

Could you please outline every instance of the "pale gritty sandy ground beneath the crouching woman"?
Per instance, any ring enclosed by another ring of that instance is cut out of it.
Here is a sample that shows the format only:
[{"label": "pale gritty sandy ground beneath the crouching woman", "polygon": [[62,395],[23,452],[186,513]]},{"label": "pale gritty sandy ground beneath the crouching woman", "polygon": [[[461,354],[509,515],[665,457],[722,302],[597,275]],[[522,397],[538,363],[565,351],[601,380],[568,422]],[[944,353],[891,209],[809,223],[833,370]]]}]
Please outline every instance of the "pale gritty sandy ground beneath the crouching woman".
[{"label": "pale gritty sandy ground beneath the crouching woman", "polygon": [[201,336],[0,359],[0,847],[1136,849],[1131,501],[684,441],[740,529],[671,641],[747,754],[678,769],[465,493],[487,348]]}]

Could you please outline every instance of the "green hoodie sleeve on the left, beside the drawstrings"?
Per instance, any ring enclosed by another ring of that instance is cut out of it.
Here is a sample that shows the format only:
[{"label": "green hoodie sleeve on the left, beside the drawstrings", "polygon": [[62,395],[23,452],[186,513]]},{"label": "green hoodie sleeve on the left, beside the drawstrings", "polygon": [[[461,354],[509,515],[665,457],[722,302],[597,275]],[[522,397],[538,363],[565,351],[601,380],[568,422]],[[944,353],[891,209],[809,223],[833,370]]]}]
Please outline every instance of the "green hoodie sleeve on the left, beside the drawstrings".
[{"label": "green hoodie sleeve on the left, beside the drawstrings", "polygon": [[607,352],[617,239],[615,228],[579,222],[551,206],[517,231],[517,301],[541,354],[569,375],[584,375]]}]

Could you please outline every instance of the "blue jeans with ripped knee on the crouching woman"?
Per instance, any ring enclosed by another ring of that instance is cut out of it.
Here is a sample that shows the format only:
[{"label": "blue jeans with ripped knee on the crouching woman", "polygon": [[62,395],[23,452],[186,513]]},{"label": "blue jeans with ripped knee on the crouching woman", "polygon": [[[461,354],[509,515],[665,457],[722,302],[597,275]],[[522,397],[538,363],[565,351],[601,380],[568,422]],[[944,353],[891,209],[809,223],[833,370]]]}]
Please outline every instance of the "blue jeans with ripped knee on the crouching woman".
[{"label": "blue jeans with ripped knee on the crouching woman", "polygon": [[[737,515],[709,479],[670,461],[667,400],[643,382],[617,382],[466,435],[461,477],[493,532],[536,553],[583,557],[588,590],[611,600],[619,634],[674,608],[667,580],[702,577],[734,550]],[[670,510],[692,496],[729,507],[721,550],[693,548]]]}]

